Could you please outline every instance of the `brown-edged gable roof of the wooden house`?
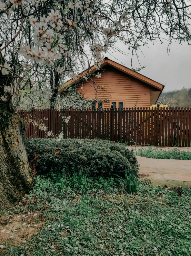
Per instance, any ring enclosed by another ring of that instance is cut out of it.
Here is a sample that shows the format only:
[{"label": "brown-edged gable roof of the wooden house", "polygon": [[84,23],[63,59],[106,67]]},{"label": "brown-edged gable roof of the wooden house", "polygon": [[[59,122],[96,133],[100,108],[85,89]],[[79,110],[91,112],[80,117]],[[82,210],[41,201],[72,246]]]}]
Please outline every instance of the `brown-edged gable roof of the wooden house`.
[{"label": "brown-edged gable roof of the wooden house", "polygon": [[[110,65],[111,67],[114,67],[114,68],[116,68],[116,69],[134,77],[134,78],[137,78],[138,80],[140,80],[142,82],[145,82],[148,85],[153,86],[153,87],[155,87],[155,88],[157,88],[161,91],[164,88],[164,85],[162,85],[161,83],[158,83],[158,82],[156,82],[156,81],[154,81],[154,80],[152,80],[148,77],[145,77],[142,74],[139,74],[139,73],[133,71],[132,69],[129,69],[129,68],[127,68],[127,67],[125,67],[125,66],[123,66],[123,65],[121,65],[121,64],[119,64],[115,61],[112,61],[112,60],[108,59],[107,57],[105,57],[104,60],[101,62],[100,67],[103,68],[105,65]],[[89,69],[86,69],[83,72],[81,72],[80,74],[78,74],[77,79],[70,79],[66,83],[64,83],[60,87],[59,91],[62,92],[62,90],[63,91],[66,90],[68,88],[68,86],[72,85],[74,82],[79,82],[82,79],[82,77],[87,74],[87,71],[89,71],[89,73],[92,74],[92,73],[97,71],[97,68],[96,68],[96,66],[92,65]]]}]

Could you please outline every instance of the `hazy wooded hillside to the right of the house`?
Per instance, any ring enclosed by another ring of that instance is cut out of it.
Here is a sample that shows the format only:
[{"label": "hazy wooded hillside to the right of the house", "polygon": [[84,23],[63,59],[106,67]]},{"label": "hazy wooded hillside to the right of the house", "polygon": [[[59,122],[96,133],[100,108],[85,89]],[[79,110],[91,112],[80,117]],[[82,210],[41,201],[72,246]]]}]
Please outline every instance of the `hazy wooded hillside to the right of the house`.
[{"label": "hazy wooded hillside to the right of the house", "polygon": [[191,88],[181,90],[163,91],[158,99],[158,103],[168,105],[168,107],[191,107]]}]

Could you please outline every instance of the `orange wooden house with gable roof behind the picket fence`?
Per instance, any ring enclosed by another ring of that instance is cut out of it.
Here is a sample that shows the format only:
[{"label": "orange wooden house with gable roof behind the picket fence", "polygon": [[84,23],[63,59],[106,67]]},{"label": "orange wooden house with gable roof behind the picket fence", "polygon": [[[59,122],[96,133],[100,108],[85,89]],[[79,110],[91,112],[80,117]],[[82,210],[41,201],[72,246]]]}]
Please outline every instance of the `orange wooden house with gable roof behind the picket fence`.
[{"label": "orange wooden house with gable roof behind the picket fence", "polygon": [[[87,81],[82,79],[91,75]],[[101,73],[101,77],[96,75]],[[60,94],[66,94],[69,86],[77,85],[80,94],[87,99],[94,99],[92,108],[150,107],[155,104],[164,88],[148,77],[114,62],[107,57],[102,61],[100,70],[92,66],[70,79],[60,88]]]}]

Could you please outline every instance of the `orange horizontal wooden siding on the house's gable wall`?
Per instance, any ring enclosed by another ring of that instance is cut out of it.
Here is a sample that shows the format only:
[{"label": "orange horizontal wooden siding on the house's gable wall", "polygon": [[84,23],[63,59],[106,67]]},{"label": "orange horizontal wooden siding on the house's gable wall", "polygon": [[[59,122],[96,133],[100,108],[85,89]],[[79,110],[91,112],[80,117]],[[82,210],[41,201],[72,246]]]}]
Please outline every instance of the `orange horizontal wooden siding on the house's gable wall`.
[{"label": "orange horizontal wooden siding on the house's gable wall", "polygon": [[111,102],[120,101],[123,102],[123,107],[133,107],[136,100],[136,107],[150,107],[151,92],[160,91],[108,65],[97,72],[101,73],[101,77],[94,77],[95,84],[88,79],[78,86],[78,91],[88,99],[110,99],[110,102],[103,103],[104,108],[111,107]]}]

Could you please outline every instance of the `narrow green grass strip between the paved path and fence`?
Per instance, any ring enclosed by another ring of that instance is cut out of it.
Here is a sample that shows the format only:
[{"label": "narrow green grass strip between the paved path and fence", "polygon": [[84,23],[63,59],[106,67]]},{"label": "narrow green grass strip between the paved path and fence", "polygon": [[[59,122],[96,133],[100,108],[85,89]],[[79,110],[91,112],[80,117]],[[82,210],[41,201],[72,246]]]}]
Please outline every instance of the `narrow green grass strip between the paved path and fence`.
[{"label": "narrow green grass strip between the paved path and fence", "polygon": [[148,158],[191,160],[191,150],[180,151],[179,148],[165,150],[162,148],[148,147],[148,149],[139,149],[136,155]]}]

